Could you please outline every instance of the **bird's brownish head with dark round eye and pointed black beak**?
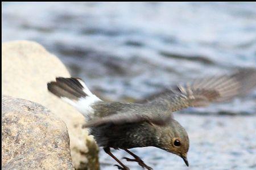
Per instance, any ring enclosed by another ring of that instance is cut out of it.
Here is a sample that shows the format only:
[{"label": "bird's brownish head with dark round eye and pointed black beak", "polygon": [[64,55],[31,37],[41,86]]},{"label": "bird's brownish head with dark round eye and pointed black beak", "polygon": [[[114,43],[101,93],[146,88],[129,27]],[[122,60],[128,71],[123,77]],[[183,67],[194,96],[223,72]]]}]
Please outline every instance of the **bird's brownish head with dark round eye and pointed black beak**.
[{"label": "bird's brownish head with dark round eye and pointed black beak", "polygon": [[187,131],[175,120],[172,120],[168,126],[161,129],[158,147],[180,156],[188,166],[189,139]]}]

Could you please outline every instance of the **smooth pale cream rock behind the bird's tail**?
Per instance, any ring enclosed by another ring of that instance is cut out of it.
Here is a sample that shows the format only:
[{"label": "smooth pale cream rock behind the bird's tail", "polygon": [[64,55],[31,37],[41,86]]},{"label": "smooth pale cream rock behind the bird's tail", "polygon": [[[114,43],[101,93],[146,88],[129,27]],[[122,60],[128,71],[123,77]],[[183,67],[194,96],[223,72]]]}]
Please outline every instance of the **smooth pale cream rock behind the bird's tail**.
[{"label": "smooth pale cream rock behind the bird's tail", "polygon": [[97,145],[93,137],[88,136],[88,131],[81,128],[84,117],[47,91],[47,82],[56,76],[71,75],[43,46],[31,41],[2,44],[2,94],[34,101],[50,109],[68,127],[75,168],[98,169]]}]

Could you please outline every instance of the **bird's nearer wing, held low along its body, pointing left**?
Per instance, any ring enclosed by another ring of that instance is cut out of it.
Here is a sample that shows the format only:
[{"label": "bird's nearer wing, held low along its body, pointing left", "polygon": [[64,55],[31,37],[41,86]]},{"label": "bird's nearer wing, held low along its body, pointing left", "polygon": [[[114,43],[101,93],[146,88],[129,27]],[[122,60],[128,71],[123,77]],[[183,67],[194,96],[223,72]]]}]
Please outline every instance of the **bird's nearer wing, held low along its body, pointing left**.
[{"label": "bird's nearer wing, held low along its body, pointing left", "polygon": [[[121,125],[127,123],[138,123],[138,122],[148,122],[154,125],[166,125],[171,121],[172,113],[161,112],[162,107],[160,105],[139,105],[131,104],[130,109],[124,109],[115,114],[110,114],[106,117],[98,117],[86,122],[83,126],[84,128],[102,126],[106,124]],[[164,109],[167,111],[167,109]]]}]

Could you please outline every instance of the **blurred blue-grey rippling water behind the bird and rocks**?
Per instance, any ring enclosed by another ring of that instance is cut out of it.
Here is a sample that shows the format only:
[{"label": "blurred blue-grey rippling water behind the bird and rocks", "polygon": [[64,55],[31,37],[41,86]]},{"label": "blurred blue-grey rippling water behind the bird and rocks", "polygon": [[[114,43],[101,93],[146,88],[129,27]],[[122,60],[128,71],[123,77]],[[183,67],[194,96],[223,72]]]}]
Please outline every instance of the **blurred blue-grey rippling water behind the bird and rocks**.
[{"label": "blurred blue-grey rippling water behind the bird and rocks", "polygon": [[[39,42],[102,99],[136,101],[199,76],[256,68],[255,9],[254,2],[9,2],[2,42]],[[132,151],[155,169],[254,169],[255,103],[256,91],[176,113],[191,137],[190,168],[156,148]],[[100,162],[115,164],[103,151]]]}]

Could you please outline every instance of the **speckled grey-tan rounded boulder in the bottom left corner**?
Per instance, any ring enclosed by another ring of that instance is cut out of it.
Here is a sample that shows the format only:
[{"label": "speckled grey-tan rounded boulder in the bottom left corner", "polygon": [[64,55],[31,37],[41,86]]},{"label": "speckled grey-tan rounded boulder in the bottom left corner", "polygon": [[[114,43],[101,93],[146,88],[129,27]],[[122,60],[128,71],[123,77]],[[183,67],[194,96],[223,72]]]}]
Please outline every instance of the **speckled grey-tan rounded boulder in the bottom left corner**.
[{"label": "speckled grey-tan rounded boulder in the bottom left corner", "polygon": [[74,169],[65,123],[40,104],[2,96],[2,169]]}]

